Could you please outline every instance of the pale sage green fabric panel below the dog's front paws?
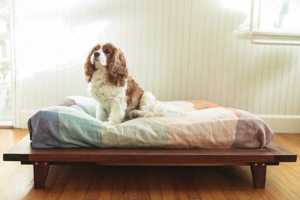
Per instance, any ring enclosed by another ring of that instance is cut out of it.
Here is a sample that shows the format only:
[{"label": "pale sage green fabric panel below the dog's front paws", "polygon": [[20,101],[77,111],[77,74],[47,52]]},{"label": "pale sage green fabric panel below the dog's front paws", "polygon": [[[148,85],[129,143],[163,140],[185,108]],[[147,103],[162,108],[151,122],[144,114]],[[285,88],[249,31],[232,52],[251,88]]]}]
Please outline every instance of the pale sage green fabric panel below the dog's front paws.
[{"label": "pale sage green fabric panel below the dog's front paws", "polygon": [[[152,120],[154,119],[154,120]],[[101,124],[102,147],[164,147],[169,141],[169,129],[164,118],[137,118],[116,126]]]}]

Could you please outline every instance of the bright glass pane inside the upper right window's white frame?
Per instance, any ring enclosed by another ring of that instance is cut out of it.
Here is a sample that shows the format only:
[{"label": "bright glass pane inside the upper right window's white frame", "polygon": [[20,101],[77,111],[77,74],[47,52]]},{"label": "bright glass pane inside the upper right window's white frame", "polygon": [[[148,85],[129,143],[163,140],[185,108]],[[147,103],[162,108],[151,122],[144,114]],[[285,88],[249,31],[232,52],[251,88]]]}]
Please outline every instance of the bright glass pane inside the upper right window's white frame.
[{"label": "bright glass pane inside the upper right window's white frame", "polygon": [[260,2],[259,31],[300,33],[300,0]]}]

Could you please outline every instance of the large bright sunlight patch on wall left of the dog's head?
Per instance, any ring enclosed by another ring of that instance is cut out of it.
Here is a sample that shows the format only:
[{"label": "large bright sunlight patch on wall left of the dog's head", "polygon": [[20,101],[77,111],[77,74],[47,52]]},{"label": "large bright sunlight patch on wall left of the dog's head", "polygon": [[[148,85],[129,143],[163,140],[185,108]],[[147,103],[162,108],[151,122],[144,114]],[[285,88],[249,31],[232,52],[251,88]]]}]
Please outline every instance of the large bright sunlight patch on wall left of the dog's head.
[{"label": "large bright sunlight patch on wall left of the dog's head", "polygon": [[17,25],[16,54],[20,79],[55,66],[68,67],[67,63],[78,58],[84,60],[83,52],[96,43],[98,34],[108,24],[108,21],[99,21],[81,25],[73,33],[64,28],[59,17]]}]

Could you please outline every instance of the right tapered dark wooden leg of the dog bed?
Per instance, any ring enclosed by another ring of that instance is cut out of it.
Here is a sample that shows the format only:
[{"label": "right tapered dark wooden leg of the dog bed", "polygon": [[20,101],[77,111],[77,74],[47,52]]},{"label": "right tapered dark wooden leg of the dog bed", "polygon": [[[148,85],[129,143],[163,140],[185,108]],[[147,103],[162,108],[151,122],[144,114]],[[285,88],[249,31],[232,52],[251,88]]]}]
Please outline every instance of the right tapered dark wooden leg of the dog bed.
[{"label": "right tapered dark wooden leg of the dog bed", "polygon": [[254,187],[265,189],[265,175],[267,172],[267,163],[250,163]]}]

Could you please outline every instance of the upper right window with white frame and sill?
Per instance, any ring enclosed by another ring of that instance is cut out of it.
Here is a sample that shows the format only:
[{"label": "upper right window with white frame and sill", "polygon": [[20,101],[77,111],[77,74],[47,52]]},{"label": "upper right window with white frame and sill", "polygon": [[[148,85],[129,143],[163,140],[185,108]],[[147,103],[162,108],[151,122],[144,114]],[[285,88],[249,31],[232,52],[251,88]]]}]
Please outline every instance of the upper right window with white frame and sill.
[{"label": "upper right window with white frame and sill", "polygon": [[300,0],[253,0],[255,43],[300,44]]}]

